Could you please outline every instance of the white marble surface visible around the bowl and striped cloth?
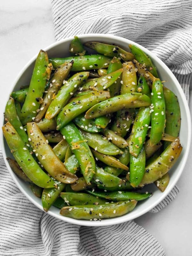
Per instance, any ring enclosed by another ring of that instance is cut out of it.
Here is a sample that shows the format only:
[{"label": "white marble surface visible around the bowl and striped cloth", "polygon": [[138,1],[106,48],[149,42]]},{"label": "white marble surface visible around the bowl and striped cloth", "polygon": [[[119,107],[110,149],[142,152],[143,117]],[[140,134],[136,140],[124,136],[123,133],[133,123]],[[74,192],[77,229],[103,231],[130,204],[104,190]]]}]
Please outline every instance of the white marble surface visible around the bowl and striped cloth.
[{"label": "white marble surface visible around the bowl and striped cloth", "polygon": [[[55,42],[51,1],[1,1],[0,20],[0,102],[4,106],[21,68],[40,49]],[[192,100],[189,104],[192,109]],[[156,237],[167,256],[192,255],[191,170],[189,157],[177,184],[180,188],[177,198],[160,212],[146,213],[135,220]]]}]

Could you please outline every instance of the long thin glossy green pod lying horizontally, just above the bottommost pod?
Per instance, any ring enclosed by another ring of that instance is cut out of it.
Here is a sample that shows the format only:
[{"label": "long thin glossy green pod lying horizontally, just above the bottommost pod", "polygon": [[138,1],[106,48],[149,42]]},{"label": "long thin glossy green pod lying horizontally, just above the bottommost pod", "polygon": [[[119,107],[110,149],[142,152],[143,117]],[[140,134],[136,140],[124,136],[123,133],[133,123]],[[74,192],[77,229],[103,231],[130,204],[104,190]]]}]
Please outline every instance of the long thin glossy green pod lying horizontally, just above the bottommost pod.
[{"label": "long thin glossy green pod lying horizontally, just above the bottommost pod", "polygon": [[118,201],[126,201],[129,199],[134,199],[137,201],[145,200],[148,197],[152,196],[152,193],[138,193],[131,191],[114,191],[114,192],[100,192],[100,191],[88,191],[93,196],[99,196],[101,198],[105,198],[108,200],[112,200],[113,202]]}]

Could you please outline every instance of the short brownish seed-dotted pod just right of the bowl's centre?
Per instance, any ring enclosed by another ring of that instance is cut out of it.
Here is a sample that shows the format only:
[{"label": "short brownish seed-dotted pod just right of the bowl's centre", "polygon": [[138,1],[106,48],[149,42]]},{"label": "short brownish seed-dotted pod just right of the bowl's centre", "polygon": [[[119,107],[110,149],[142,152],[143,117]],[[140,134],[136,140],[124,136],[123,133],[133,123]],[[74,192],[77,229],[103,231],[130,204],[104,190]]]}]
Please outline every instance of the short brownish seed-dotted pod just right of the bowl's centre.
[{"label": "short brownish seed-dotted pod just right of the bowl's centre", "polygon": [[114,131],[106,128],[102,133],[118,148],[125,148],[128,146],[127,141],[121,136],[117,135]]}]

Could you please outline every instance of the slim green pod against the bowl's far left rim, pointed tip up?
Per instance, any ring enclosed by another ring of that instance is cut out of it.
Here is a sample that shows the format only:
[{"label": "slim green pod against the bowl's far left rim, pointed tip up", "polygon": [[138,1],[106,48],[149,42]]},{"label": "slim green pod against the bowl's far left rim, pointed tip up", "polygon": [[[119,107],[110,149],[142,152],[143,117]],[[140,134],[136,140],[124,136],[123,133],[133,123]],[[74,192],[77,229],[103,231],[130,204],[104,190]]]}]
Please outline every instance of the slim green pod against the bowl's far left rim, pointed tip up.
[{"label": "slim green pod against the bowl's far left rim, pointed tip up", "polygon": [[5,106],[5,119],[8,120],[14,129],[18,132],[19,136],[25,143],[25,147],[29,147],[28,145],[28,136],[27,133],[25,132],[23,125],[20,121],[19,116],[17,115],[17,111],[15,108],[15,102],[13,98],[9,98],[7,101],[7,104]]}]

